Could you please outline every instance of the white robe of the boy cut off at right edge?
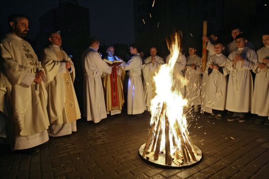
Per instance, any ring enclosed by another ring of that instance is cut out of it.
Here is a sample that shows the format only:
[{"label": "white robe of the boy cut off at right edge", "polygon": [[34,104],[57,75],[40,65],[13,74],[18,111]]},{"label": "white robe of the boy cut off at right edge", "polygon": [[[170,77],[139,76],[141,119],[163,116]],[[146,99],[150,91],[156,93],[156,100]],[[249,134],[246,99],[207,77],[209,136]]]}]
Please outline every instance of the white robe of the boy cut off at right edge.
[{"label": "white robe of the boy cut off at right edge", "polygon": [[259,63],[263,63],[263,59],[269,59],[269,46],[262,47],[257,51],[258,63],[252,69],[256,73],[254,82],[254,94],[251,105],[251,113],[259,116],[268,116],[269,114],[269,63],[266,68],[258,68]]}]

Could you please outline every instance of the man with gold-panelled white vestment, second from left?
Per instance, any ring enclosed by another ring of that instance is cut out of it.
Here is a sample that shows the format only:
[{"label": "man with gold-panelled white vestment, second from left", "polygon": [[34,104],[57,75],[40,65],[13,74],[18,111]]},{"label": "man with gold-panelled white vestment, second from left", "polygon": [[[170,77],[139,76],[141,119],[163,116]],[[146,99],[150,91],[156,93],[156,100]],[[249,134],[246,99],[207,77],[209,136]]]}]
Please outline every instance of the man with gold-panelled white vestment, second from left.
[{"label": "man with gold-panelled white vestment, second from left", "polygon": [[59,33],[50,33],[48,40],[51,44],[44,49],[42,66],[47,77],[49,136],[59,137],[77,131],[76,120],[81,117],[73,85],[73,62],[61,47]]}]

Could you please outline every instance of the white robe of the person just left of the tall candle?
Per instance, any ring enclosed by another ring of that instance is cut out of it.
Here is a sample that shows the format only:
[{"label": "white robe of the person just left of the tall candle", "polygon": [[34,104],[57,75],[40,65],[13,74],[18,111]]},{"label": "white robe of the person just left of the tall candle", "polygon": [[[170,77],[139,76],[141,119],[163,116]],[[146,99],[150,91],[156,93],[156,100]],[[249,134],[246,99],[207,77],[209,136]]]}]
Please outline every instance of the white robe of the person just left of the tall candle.
[{"label": "white robe of the person just left of the tall candle", "polygon": [[[195,69],[192,65],[196,66]],[[201,66],[202,61],[198,55],[188,56],[185,70],[185,79],[188,80],[186,85],[186,99],[190,106],[201,104]]]}]

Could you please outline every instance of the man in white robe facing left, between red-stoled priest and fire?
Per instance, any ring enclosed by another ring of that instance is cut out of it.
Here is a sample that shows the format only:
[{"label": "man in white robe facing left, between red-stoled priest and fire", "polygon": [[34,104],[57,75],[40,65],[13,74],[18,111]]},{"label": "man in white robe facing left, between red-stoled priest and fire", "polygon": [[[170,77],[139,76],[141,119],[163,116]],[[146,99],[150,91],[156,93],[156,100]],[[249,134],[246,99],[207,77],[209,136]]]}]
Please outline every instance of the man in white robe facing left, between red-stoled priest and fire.
[{"label": "man in white robe facing left, between red-stoled priest and fire", "polygon": [[133,57],[126,63],[121,63],[123,70],[129,70],[127,114],[137,115],[146,110],[144,90],[141,80],[142,59],[137,50],[137,44],[130,45],[130,53]]}]

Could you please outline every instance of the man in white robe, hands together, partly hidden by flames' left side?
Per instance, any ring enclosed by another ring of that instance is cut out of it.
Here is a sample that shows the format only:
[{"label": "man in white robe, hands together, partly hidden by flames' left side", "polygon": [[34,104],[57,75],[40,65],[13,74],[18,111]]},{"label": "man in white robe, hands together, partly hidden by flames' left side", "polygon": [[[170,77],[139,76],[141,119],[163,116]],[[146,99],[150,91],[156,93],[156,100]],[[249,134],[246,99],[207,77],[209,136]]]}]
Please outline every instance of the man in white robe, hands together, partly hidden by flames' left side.
[{"label": "man in white robe, hands together, partly hidden by flames' left side", "polygon": [[157,56],[157,48],[150,48],[150,57],[146,58],[145,64],[142,65],[143,73],[143,86],[144,86],[144,97],[146,100],[147,111],[150,111],[151,99],[156,96],[156,86],[153,80],[155,73],[158,71],[160,65],[164,64],[163,58]]}]

